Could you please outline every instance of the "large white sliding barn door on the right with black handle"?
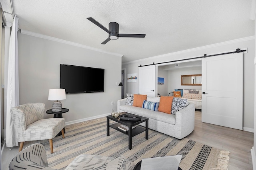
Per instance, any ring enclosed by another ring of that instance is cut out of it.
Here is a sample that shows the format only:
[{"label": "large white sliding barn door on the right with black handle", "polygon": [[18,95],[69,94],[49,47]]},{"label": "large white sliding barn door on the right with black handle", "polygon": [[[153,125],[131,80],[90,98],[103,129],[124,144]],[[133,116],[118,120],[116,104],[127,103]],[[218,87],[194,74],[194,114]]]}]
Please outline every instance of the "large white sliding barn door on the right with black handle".
[{"label": "large white sliding barn door on the right with black handle", "polygon": [[243,53],[202,59],[202,122],[243,129]]}]

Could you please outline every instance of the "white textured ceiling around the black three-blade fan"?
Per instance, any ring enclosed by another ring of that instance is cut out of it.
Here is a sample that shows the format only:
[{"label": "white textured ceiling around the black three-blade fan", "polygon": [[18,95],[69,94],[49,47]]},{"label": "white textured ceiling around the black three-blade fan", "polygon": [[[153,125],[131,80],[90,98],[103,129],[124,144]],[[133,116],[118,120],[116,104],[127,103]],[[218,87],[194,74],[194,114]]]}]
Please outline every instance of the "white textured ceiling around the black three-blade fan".
[{"label": "white textured ceiling around the black three-blade fan", "polygon": [[[11,0],[1,0],[12,12]],[[122,63],[254,35],[252,0],[12,0],[19,28],[124,55]],[[12,22],[10,14],[4,13]],[[119,33],[145,38],[111,40],[86,18]]]}]

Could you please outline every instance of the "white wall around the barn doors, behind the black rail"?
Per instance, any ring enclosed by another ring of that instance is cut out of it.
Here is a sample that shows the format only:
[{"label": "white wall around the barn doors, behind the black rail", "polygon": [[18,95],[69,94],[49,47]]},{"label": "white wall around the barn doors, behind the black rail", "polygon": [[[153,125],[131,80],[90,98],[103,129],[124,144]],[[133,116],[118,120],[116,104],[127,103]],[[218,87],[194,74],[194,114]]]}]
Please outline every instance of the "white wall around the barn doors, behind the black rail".
[{"label": "white wall around the barn doors, behind the black rail", "polygon": [[[243,72],[243,126],[247,131],[253,131],[254,128],[254,36],[245,37],[243,39],[237,39],[234,41],[228,41],[218,43],[214,45],[208,45],[195,49],[188,49],[185,51],[178,51],[176,53],[170,53],[166,55],[149,57],[148,59],[142,59],[138,61],[132,61],[128,63],[122,63],[122,68],[126,68],[126,74],[137,73],[138,75],[139,65],[146,65],[152,63],[161,63],[167,61],[175,61],[178,59],[186,59],[192,57],[201,57],[204,54],[211,55],[216,53],[224,53],[230,51],[236,51],[236,49],[248,48],[248,53],[244,54],[244,72]],[[173,63],[172,63],[173,64]],[[179,80],[180,81],[180,80]],[[136,83],[126,82],[126,92],[138,93],[138,81]]]}]

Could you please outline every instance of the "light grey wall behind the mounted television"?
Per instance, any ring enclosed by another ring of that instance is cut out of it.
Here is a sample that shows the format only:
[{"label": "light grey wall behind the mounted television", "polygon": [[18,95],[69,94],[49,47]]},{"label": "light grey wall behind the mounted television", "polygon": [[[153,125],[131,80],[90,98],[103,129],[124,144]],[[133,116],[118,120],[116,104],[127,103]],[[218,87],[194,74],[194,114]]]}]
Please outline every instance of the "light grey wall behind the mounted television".
[{"label": "light grey wall behind the mounted television", "polygon": [[[67,94],[62,107],[67,122],[74,122],[110,113],[111,101],[121,97],[121,62],[119,56],[101,53],[74,45],[18,33],[20,104],[43,102],[46,110],[51,109],[48,101],[51,88],[60,88],[60,64],[88,66],[105,69],[105,90],[100,93]],[[53,117],[45,113],[45,117]]]}]

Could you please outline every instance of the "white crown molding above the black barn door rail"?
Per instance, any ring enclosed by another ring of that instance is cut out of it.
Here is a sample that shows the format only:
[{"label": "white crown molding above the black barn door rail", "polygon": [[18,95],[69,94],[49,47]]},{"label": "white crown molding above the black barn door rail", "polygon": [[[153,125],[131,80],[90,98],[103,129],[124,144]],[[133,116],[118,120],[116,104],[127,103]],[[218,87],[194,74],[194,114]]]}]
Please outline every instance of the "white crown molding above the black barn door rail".
[{"label": "white crown molding above the black barn door rail", "polygon": [[162,58],[162,57],[170,57],[172,55],[178,55],[178,54],[182,54],[182,53],[189,53],[189,52],[193,52],[193,51],[208,49],[208,48],[212,48],[212,47],[219,47],[219,46],[223,46],[223,45],[228,45],[228,44],[232,44],[232,43],[239,43],[239,42],[249,41],[249,40],[254,40],[254,35],[250,36],[250,37],[244,37],[244,38],[240,38],[240,39],[234,39],[234,40],[230,40],[230,41],[225,41],[225,42],[222,42],[222,43],[216,43],[216,44],[212,44],[212,45],[196,47],[196,48],[193,48],[193,49],[177,51],[177,52],[174,52],[174,53],[168,53],[168,54],[163,54],[163,55],[157,55],[157,56],[154,56],[154,57],[148,57],[148,58],[145,58],[145,59],[129,61],[129,62],[126,62],[126,63],[122,63],[122,65],[124,65],[124,64],[131,64],[131,63],[139,63],[139,62],[147,61],[147,60],[150,60],[150,59],[158,59],[158,58]]}]

